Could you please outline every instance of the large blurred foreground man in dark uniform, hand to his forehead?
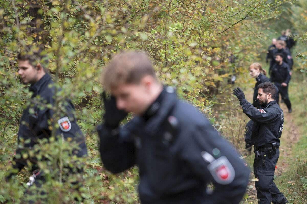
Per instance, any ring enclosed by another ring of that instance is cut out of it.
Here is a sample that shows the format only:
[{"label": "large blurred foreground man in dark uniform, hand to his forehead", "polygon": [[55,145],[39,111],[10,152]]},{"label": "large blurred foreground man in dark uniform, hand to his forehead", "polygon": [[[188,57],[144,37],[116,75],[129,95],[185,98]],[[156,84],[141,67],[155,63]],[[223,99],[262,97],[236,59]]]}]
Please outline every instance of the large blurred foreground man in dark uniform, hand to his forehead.
[{"label": "large blurred foreground man in dark uniform, hand to his forehead", "polygon": [[[104,123],[98,127],[105,168],[138,165],[143,204],[238,204],[249,170],[239,154],[195,107],[157,79],[143,52],[113,57],[103,76]],[[119,123],[127,113],[134,118]],[[213,183],[213,192],[206,191]]]}]

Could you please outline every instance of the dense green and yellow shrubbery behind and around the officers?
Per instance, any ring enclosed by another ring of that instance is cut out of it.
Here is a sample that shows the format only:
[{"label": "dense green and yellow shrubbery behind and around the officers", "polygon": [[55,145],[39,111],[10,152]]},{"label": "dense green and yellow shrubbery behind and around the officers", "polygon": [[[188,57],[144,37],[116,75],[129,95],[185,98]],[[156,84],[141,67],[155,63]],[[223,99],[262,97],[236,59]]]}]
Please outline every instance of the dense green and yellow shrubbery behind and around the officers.
[{"label": "dense green and yellow shrubbery behind and around the officers", "polygon": [[[16,148],[19,119],[30,97],[16,74],[16,54],[27,45],[43,45],[49,57],[48,69],[62,91],[56,93],[56,107],[65,98],[76,106],[79,125],[86,135],[89,156],[84,161],[86,203],[136,203],[137,168],[111,175],[102,167],[95,126],[102,122],[99,73],[111,55],[125,49],[146,51],[161,81],[175,85],[185,98],[208,114],[212,123],[241,148],[243,127],[234,126],[229,79],[241,76],[259,55],[263,22],[278,16],[286,1],[21,1],[0,0],[0,202],[20,202],[29,173],[18,175],[11,184],[4,173]],[[247,82],[239,77],[240,82]],[[229,112],[215,117],[213,104],[226,102]],[[216,120],[218,119],[218,120]],[[243,122],[241,121],[243,124]],[[225,130],[223,126],[231,126]],[[237,129],[239,128],[239,129]],[[232,131],[232,132],[229,132]],[[41,167],[61,175],[61,162],[68,155],[62,141],[41,144],[40,154],[50,163]],[[71,147],[67,147],[69,149]],[[55,151],[57,150],[57,151]],[[59,177],[57,177],[59,178]],[[70,180],[70,178],[66,178]],[[49,179],[43,189],[52,203],[72,203],[69,182]],[[43,199],[43,198],[42,198]]]}]

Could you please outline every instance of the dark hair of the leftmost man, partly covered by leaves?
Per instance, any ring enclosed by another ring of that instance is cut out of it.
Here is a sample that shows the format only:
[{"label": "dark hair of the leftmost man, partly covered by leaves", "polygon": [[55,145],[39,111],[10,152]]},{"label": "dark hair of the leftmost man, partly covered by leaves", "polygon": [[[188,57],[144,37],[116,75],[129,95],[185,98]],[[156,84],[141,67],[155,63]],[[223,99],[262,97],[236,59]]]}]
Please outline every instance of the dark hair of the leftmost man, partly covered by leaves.
[{"label": "dark hair of the leftmost man, partly covered by leaves", "polygon": [[17,54],[17,59],[26,61],[29,60],[29,63],[35,67],[38,63],[40,63],[45,72],[45,66],[48,64],[47,55],[43,54],[44,46],[25,46],[24,49]]}]

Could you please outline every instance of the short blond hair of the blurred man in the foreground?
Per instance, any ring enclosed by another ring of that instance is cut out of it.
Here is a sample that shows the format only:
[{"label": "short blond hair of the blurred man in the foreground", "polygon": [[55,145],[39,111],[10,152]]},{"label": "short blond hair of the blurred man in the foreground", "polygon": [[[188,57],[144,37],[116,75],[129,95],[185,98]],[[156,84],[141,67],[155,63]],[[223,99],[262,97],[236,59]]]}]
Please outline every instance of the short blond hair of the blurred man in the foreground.
[{"label": "short blond hair of the blurred man in the foreground", "polygon": [[123,51],[115,54],[104,68],[101,81],[104,89],[110,91],[122,84],[139,83],[144,76],[156,78],[148,55],[141,51]]}]

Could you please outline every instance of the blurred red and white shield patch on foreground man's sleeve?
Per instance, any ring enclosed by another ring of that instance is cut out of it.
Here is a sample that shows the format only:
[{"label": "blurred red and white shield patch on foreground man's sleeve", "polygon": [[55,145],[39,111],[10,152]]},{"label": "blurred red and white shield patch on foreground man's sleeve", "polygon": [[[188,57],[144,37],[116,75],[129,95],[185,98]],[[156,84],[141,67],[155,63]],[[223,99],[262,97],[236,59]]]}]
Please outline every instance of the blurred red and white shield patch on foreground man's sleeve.
[{"label": "blurred red and white shield patch on foreground man's sleeve", "polygon": [[235,169],[225,156],[221,156],[208,165],[214,180],[219,184],[230,184],[235,178]]}]

